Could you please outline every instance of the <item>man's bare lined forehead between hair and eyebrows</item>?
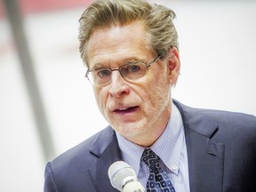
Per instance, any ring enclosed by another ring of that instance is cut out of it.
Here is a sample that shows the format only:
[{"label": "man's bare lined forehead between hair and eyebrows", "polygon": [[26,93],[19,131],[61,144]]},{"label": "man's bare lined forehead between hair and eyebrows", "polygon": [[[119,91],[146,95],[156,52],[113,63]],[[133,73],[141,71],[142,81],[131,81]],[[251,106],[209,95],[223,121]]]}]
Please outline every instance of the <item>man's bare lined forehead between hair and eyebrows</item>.
[{"label": "man's bare lined forehead between hair and eyebrows", "polygon": [[118,63],[128,59],[145,60],[152,52],[145,40],[146,33],[141,21],[126,26],[98,28],[87,45],[87,62],[90,68],[101,62]]}]

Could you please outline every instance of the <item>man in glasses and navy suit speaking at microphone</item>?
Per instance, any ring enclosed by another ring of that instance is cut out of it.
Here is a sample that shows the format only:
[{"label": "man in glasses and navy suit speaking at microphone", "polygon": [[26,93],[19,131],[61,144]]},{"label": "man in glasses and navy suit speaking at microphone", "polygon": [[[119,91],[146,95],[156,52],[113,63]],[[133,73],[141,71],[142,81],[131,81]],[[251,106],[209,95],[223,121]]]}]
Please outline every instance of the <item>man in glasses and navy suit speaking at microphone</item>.
[{"label": "man in glasses and navy suit speaking at microphone", "polygon": [[108,167],[118,160],[147,191],[256,191],[256,118],[172,100],[180,74],[174,17],[142,0],[98,0],[83,13],[85,76],[110,125],[46,165],[44,192],[116,191]]}]

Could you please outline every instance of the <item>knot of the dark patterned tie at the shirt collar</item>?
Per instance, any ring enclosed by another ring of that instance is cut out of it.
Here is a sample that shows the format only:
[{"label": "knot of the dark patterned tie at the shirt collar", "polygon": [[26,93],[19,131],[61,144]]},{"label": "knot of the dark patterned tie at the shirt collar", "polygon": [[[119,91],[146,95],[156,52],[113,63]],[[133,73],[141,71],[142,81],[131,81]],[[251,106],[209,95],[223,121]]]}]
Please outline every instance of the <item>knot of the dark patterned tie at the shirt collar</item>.
[{"label": "knot of the dark patterned tie at the shirt collar", "polygon": [[148,165],[149,168],[158,167],[159,166],[159,156],[154,153],[150,148],[145,148],[141,161]]}]

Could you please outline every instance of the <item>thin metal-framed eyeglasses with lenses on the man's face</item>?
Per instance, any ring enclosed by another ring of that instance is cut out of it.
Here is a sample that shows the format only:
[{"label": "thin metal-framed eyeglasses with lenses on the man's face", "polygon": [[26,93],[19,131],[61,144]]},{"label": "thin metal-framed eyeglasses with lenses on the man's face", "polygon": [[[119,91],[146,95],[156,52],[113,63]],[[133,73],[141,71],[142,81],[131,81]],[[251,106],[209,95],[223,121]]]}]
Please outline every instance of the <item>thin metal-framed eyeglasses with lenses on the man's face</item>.
[{"label": "thin metal-framed eyeglasses with lenses on the man's face", "polygon": [[90,81],[92,85],[105,85],[111,82],[112,71],[118,70],[120,75],[128,82],[134,82],[145,76],[148,68],[156,62],[162,55],[158,55],[155,60],[152,60],[148,64],[132,60],[128,61],[119,68],[99,68],[99,69],[88,69],[86,71],[85,77]]}]

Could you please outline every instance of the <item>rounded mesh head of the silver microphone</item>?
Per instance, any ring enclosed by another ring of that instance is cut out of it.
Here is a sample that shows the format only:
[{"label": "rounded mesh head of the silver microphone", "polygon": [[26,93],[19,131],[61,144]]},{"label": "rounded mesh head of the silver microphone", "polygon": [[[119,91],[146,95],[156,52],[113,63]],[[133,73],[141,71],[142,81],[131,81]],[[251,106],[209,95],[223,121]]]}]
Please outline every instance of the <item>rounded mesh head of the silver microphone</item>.
[{"label": "rounded mesh head of the silver microphone", "polygon": [[123,180],[127,177],[133,177],[136,180],[136,173],[132,169],[132,166],[126,164],[124,161],[117,161],[111,164],[108,168],[108,178],[111,185],[122,191],[124,182]]}]

